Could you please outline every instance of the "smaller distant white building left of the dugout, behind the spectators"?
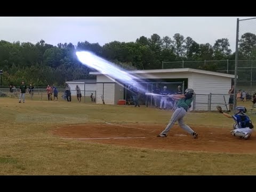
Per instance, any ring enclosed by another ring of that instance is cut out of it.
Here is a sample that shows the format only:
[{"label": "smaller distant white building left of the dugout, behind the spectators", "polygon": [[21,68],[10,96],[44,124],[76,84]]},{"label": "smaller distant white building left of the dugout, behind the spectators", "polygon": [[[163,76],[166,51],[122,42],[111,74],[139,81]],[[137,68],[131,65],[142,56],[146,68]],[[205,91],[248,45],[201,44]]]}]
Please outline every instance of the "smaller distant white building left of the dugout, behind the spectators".
[{"label": "smaller distant white building left of the dugout, behind the spectators", "polygon": [[[66,82],[70,86],[71,95],[76,96],[76,85],[80,87],[82,96],[96,95],[96,79],[79,79]],[[85,90],[85,91],[84,91]]]}]

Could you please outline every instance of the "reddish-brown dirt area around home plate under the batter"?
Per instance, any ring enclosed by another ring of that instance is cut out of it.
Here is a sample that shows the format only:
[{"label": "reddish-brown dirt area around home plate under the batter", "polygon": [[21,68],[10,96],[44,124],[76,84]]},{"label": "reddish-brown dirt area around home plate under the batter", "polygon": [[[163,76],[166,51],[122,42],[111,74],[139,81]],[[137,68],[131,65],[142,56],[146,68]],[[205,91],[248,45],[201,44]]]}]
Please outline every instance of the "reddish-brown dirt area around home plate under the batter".
[{"label": "reddish-brown dirt area around home plate under the batter", "polygon": [[256,138],[249,140],[230,135],[231,129],[191,126],[198,132],[193,139],[178,125],[174,125],[166,138],[156,137],[166,125],[159,124],[79,124],[59,126],[53,134],[64,139],[82,142],[107,143],[136,148],[193,150],[222,153],[256,153]]}]

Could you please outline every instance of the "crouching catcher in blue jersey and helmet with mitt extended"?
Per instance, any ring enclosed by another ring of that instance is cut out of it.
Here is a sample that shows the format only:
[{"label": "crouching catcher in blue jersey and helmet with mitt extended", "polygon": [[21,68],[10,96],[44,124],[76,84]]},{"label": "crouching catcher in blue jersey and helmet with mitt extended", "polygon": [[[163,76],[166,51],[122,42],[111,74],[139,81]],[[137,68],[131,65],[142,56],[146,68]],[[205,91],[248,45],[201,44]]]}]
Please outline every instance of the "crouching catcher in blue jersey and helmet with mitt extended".
[{"label": "crouching catcher in blue jersey and helmet with mitt extended", "polygon": [[252,131],[253,131],[253,124],[249,118],[249,116],[245,115],[246,108],[243,106],[237,106],[236,107],[236,114],[235,115],[229,115],[222,111],[222,108],[220,106],[216,107],[217,110],[225,115],[226,117],[233,118],[235,121],[235,124],[233,125],[232,131],[230,131],[230,134],[233,136],[237,136],[241,139],[247,140],[250,138]]}]

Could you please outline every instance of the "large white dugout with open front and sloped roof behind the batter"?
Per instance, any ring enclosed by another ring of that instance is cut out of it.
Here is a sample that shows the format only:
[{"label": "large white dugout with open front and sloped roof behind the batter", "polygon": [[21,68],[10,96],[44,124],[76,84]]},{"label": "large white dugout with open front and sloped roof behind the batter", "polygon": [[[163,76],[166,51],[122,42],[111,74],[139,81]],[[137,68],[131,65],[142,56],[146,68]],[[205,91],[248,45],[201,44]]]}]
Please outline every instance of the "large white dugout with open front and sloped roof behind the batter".
[{"label": "large white dugout with open front and sloped roof behind the batter", "polygon": [[[207,101],[210,93],[221,95],[214,102],[223,103],[223,95],[228,94],[231,81],[235,77],[235,75],[191,68],[132,70],[127,71],[127,73],[139,78],[142,86],[146,86],[148,83],[154,85],[158,82],[167,84],[172,89],[178,87],[178,85],[182,85],[184,90],[187,87],[194,89],[197,95],[197,110],[209,108]],[[122,82],[122,79],[111,79],[108,74],[101,74],[97,71],[90,72],[90,75],[97,77],[96,103],[102,103],[101,96],[103,96],[105,103],[109,105],[117,105],[118,100],[127,99],[127,97],[125,98],[127,87],[125,84],[129,82]],[[150,91],[151,89],[147,88],[147,90]]]}]

